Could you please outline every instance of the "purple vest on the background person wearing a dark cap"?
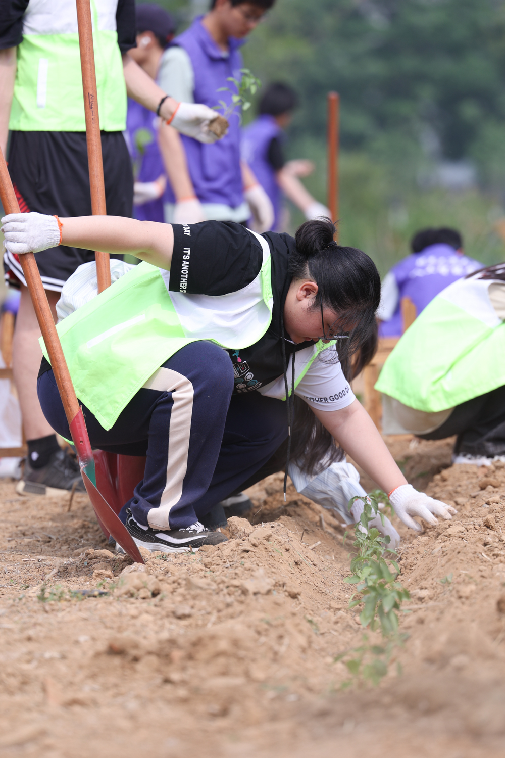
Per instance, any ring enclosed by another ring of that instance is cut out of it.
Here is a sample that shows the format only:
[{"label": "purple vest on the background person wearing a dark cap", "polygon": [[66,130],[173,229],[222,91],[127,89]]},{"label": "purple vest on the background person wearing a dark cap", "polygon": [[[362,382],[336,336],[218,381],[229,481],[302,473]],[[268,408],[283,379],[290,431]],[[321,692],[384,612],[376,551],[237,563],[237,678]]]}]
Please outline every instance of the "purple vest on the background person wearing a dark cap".
[{"label": "purple vest on the background person wearing a dark cap", "polygon": [[[126,132],[128,135],[128,148],[132,161],[140,164],[139,174],[136,177],[139,182],[154,182],[157,177],[165,173],[163,158],[157,146],[157,133],[153,126],[156,114],[148,111],[143,105],[128,98],[128,111],[126,114]],[[145,136],[151,135],[151,142],[145,144]],[[139,149],[139,141],[142,141],[142,149]],[[145,202],[144,205],[134,205],[133,212],[139,221],[164,221],[163,202],[173,202],[172,193],[165,193],[157,200]]]}]

